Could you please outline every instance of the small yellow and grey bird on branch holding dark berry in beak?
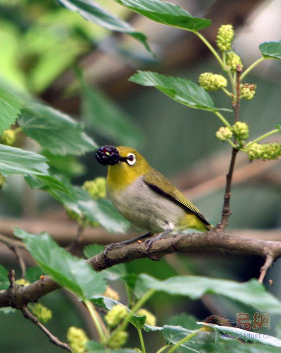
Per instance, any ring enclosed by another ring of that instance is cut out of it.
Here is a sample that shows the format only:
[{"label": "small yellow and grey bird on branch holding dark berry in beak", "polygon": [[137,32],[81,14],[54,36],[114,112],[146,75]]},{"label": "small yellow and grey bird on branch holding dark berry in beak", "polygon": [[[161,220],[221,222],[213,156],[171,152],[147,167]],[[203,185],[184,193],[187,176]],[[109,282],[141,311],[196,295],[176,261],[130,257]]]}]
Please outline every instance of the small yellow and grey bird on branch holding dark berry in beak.
[{"label": "small yellow and grey bird on branch holding dark berry in beak", "polygon": [[101,146],[96,159],[108,165],[108,198],[124,218],[148,231],[142,237],[118,244],[156,235],[146,241],[150,248],[154,240],[174,230],[193,228],[206,232],[212,228],[202,213],[133,148]]}]

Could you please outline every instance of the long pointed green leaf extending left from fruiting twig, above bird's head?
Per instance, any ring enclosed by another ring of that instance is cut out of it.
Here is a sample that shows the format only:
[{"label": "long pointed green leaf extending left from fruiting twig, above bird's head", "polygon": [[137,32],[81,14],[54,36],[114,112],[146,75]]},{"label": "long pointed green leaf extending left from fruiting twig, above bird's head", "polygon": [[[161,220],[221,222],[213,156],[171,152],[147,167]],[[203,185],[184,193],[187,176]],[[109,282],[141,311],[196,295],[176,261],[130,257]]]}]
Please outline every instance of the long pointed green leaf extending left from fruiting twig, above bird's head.
[{"label": "long pointed green leaf extending left from fruiting twig, above bird's head", "polygon": [[190,108],[215,111],[210,95],[194,82],[180,77],[165,76],[150,71],[138,71],[129,81],[143,86],[153,86],[174,99],[176,102]]}]

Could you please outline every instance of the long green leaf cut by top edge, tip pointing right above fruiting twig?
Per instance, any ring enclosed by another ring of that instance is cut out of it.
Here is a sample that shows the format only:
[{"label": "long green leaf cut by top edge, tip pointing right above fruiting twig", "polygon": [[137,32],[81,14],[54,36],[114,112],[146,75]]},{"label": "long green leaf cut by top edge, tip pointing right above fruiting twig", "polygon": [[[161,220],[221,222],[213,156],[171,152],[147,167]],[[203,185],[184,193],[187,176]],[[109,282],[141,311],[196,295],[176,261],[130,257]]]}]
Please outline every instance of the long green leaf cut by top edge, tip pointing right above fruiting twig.
[{"label": "long green leaf cut by top edge, tip pointing right above fruiting twig", "polygon": [[115,0],[132,11],[164,25],[182,28],[188,31],[199,31],[211,24],[205,18],[192,17],[178,5],[158,0]]}]

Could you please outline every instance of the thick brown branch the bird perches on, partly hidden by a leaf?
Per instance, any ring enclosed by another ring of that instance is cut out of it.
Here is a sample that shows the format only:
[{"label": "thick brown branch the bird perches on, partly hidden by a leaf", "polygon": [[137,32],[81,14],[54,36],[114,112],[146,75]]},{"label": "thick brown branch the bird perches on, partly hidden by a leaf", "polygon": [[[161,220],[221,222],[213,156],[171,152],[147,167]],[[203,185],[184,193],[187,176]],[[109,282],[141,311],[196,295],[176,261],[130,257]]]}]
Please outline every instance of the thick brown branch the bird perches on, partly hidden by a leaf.
[{"label": "thick brown branch the bird perches on, partly hidden by a leaf", "polygon": [[[145,244],[130,244],[123,247],[116,247],[108,251],[106,258],[103,253],[87,260],[87,262],[97,271],[114,266],[119,263],[130,262],[136,259],[151,258],[158,260],[166,254],[175,252],[186,252],[190,250],[202,249],[224,249],[228,251],[239,251],[246,254],[254,254],[268,258],[269,254],[272,262],[281,257],[281,242],[264,241],[245,237],[234,237],[224,233],[221,229],[212,229],[207,233],[177,234],[155,241],[153,246],[147,251]],[[268,261],[266,264],[268,265]],[[263,266],[265,275],[271,265]],[[264,276],[263,276],[264,277]],[[21,309],[29,302],[35,302],[47,293],[60,288],[60,285],[52,281],[48,276],[43,280],[38,280],[27,286],[15,286],[0,291],[0,307],[11,306]]]}]

